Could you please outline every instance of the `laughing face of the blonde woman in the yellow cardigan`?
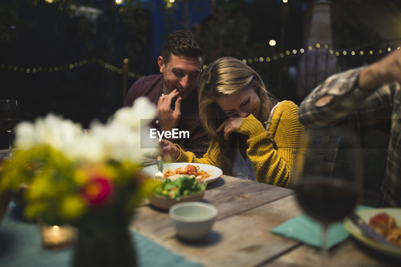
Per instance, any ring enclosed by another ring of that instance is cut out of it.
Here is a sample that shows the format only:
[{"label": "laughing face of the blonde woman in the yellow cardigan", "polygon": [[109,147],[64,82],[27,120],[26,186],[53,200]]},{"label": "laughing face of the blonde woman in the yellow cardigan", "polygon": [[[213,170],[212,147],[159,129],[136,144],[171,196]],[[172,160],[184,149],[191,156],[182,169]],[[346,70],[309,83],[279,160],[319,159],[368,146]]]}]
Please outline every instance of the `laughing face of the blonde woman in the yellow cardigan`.
[{"label": "laughing face of the blonde woman in the yellow cardigan", "polygon": [[253,86],[243,88],[231,95],[221,95],[216,103],[228,117],[238,116],[246,118],[249,115],[257,118],[260,111],[260,98]]}]

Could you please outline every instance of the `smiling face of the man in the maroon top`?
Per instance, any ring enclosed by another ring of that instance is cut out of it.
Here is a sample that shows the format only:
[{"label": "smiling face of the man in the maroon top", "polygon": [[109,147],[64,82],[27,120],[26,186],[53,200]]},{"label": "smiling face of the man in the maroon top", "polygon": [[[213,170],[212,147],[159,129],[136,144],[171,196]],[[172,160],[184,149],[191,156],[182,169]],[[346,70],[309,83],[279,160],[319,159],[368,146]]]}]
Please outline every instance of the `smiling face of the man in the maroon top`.
[{"label": "smiling face of the man in the maroon top", "polygon": [[160,73],[163,73],[164,95],[177,89],[178,97],[185,99],[198,84],[203,63],[202,58],[171,55],[168,63],[165,63],[162,57],[159,57],[157,61],[160,67]]}]

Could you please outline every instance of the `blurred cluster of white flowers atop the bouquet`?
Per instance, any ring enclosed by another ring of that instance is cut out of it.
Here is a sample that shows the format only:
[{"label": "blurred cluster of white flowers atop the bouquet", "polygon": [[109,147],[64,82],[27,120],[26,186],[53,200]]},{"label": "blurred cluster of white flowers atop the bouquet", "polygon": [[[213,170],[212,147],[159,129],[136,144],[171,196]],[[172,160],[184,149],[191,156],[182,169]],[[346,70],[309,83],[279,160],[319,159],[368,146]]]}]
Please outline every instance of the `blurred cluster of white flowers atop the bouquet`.
[{"label": "blurred cluster of white flowers atop the bouquet", "polygon": [[[91,123],[91,131],[86,134],[79,124],[49,114],[34,123],[20,123],[16,127],[16,145],[25,150],[49,145],[70,160],[77,161],[112,159],[139,162],[149,153],[149,149],[141,148],[141,132],[149,133],[149,126],[144,122],[155,116],[155,105],[141,97],[132,107],[117,110],[106,125]],[[142,127],[141,119],[144,119]],[[149,144],[142,146],[150,147]]]}]

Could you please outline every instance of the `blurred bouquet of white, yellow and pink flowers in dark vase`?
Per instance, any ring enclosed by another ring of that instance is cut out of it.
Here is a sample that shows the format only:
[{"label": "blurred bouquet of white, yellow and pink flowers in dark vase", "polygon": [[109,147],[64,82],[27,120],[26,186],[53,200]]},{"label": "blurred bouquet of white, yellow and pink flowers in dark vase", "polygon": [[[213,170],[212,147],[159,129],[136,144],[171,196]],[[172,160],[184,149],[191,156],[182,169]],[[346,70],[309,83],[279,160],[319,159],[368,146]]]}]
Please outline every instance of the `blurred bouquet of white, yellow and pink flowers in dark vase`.
[{"label": "blurred bouquet of white, yellow and pink flowers in dark vase", "polygon": [[116,111],[89,131],[55,115],[16,126],[13,160],[4,161],[0,192],[26,184],[28,218],[79,229],[74,266],[135,266],[128,226],[155,181],[138,174],[149,151],[140,148],[140,119],[156,108],[146,98]]}]

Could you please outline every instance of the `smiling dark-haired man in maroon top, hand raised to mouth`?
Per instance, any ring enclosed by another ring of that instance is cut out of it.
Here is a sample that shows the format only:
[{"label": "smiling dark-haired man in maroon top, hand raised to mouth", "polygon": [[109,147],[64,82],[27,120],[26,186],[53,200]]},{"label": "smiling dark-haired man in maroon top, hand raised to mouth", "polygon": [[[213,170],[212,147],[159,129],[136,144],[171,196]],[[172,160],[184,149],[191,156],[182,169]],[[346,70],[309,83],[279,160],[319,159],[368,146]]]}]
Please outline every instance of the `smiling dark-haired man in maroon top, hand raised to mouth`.
[{"label": "smiling dark-haired man in maroon top, hand raised to mouth", "polygon": [[[157,63],[158,75],[149,75],[136,81],[128,91],[124,106],[130,106],[140,96],[146,96],[157,105],[158,118],[151,128],[162,131],[188,131],[182,138],[165,138],[179,144],[184,150],[202,158],[206,153],[207,134],[199,118],[198,79],[206,50],[192,32],[178,30],[170,34],[163,45]],[[183,138],[185,136],[185,138]]]}]

